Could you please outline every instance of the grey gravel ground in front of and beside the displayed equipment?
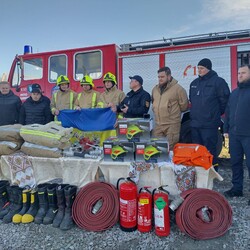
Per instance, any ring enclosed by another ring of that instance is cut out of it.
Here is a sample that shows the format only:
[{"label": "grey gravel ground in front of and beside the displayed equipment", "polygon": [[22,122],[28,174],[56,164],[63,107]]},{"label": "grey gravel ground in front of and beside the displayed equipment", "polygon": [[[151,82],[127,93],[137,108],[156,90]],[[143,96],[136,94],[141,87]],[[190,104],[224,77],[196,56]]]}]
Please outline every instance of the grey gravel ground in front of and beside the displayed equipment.
[{"label": "grey gravel ground in front of and beside the displayed equipment", "polygon": [[[223,193],[231,188],[231,170],[228,159],[221,159],[219,173],[223,182],[214,181],[214,190]],[[35,250],[35,249],[212,249],[235,250],[250,249],[250,180],[245,171],[244,197],[229,199],[233,209],[233,225],[222,237],[212,240],[193,240],[184,235],[171,222],[168,237],[159,238],[154,232],[141,234],[138,231],[126,233],[116,225],[101,233],[87,232],[76,226],[66,232],[51,225],[0,224],[0,249]]]}]

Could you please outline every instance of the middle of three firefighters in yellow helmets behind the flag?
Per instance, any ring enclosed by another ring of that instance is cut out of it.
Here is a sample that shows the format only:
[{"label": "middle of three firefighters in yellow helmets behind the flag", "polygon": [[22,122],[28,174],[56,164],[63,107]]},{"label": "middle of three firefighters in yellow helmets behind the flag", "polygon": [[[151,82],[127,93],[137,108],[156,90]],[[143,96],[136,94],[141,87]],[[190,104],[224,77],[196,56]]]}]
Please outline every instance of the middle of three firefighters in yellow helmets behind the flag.
[{"label": "middle of three firefighters in yellow helmets behind the flag", "polygon": [[80,81],[80,84],[83,91],[77,96],[75,109],[96,108],[100,93],[93,89],[95,87],[93,79],[90,76],[85,75]]}]

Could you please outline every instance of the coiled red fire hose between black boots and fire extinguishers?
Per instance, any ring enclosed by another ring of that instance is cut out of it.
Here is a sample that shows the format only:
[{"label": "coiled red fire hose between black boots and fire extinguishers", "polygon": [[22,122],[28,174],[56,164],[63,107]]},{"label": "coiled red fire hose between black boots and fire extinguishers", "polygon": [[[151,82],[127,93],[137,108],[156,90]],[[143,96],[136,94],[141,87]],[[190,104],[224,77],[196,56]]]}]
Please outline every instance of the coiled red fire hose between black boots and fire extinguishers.
[{"label": "coiled red fire hose between black boots and fire extinguishers", "polygon": [[72,207],[75,223],[88,231],[103,231],[119,219],[117,189],[105,182],[92,182],[80,189]]}]

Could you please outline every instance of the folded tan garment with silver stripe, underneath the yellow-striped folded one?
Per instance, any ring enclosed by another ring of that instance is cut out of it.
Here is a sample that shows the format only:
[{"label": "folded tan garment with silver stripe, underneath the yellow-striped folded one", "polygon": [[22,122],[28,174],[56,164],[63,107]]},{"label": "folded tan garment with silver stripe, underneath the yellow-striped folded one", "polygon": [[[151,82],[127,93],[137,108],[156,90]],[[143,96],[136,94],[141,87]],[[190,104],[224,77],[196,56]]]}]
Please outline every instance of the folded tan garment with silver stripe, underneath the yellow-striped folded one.
[{"label": "folded tan garment with silver stripe, underneath the yellow-striped folded one", "polygon": [[29,142],[25,142],[21,151],[27,155],[46,158],[59,158],[62,156],[62,150],[59,148],[49,148]]}]

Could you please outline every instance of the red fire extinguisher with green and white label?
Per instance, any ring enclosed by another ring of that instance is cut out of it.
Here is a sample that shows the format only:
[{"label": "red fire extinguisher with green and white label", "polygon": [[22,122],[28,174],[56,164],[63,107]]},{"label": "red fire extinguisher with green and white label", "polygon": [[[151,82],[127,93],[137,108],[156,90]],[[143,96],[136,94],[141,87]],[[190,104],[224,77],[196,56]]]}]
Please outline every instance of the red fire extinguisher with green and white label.
[{"label": "red fire extinguisher with green and white label", "polygon": [[163,187],[153,190],[155,234],[158,236],[170,234],[168,191]]}]

